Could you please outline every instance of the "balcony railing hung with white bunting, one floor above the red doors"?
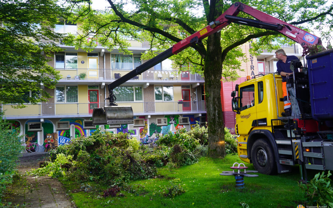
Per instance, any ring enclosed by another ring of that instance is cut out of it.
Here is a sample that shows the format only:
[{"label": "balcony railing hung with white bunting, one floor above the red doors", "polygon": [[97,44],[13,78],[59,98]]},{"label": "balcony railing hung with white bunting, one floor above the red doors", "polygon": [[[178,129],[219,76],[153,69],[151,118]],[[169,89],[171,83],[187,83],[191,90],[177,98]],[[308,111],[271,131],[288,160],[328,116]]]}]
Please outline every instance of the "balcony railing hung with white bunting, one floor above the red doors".
[{"label": "balcony railing hung with white bunting, one floor above the red doors", "polygon": [[[132,70],[119,69],[56,69],[62,75],[62,79],[69,80],[114,80],[126,75]],[[85,73],[85,77],[80,77],[80,74]],[[177,74],[176,70],[147,70],[141,75],[134,77],[132,80],[184,80],[184,81],[199,81],[204,80],[204,77],[199,74],[190,74],[189,72],[181,72]]]}]

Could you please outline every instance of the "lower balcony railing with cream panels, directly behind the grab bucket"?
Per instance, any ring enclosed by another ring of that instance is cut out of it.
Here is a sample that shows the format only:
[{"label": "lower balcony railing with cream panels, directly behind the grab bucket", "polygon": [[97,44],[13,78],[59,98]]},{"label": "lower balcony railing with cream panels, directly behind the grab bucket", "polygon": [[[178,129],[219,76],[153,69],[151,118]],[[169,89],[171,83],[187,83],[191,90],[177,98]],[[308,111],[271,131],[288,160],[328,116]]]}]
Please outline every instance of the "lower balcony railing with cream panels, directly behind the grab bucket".
[{"label": "lower balcony railing with cream panels, directly behind the grab bucket", "polygon": [[[103,107],[105,103],[47,103],[47,104],[26,104],[26,108],[12,108],[11,104],[2,105],[5,116],[27,117],[27,116],[69,116],[87,115],[93,113],[94,107]],[[191,102],[119,102],[118,105],[132,106],[134,114],[159,114],[159,113],[196,113],[206,111],[205,101]]]}]

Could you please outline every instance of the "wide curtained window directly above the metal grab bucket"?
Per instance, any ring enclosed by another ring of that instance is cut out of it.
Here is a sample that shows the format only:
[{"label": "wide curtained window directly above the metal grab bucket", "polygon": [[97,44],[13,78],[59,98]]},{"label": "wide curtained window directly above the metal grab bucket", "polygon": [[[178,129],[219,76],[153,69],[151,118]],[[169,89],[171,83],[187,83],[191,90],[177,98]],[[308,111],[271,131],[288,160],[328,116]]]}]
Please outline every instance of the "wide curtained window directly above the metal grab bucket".
[{"label": "wide curtained window directly above the metal grab bucket", "polygon": [[120,86],[113,90],[118,102],[142,101],[142,87]]}]

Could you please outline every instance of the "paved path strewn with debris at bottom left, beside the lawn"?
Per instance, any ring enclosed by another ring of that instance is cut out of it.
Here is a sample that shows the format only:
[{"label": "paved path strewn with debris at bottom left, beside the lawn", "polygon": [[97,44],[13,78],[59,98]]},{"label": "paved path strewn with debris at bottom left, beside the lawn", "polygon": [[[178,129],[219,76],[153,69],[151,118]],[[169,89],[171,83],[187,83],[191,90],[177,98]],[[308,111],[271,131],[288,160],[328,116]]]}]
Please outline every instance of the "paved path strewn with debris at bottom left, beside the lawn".
[{"label": "paved path strewn with debris at bottom left, beside the lawn", "polygon": [[[23,153],[18,165],[19,172],[24,175],[25,171],[39,168],[40,161],[48,156],[47,152]],[[71,204],[68,195],[57,179],[48,176],[23,177],[27,180],[26,186],[15,190],[9,196],[7,195],[5,201],[12,202],[13,205],[20,204],[19,207],[76,207]]]}]

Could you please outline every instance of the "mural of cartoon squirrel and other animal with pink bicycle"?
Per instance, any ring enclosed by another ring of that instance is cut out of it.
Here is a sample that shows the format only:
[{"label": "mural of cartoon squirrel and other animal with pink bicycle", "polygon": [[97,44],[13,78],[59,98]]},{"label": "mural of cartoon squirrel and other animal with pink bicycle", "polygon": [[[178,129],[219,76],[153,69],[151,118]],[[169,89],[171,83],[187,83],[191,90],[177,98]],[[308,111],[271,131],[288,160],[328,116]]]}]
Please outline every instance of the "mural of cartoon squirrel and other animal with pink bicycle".
[{"label": "mural of cartoon squirrel and other animal with pink bicycle", "polygon": [[[58,146],[58,134],[55,132],[55,125],[50,120],[44,120],[42,123],[43,129],[43,138],[38,138],[40,135],[38,131],[28,132],[28,123],[30,122],[40,122],[40,120],[28,120],[25,123],[25,142],[38,144],[38,152],[48,151],[50,146],[57,147]],[[52,135],[52,138],[50,136]],[[50,141],[50,143],[48,142]],[[40,145],[42,144],[42,145]]]}]

